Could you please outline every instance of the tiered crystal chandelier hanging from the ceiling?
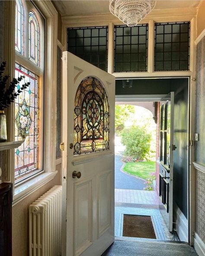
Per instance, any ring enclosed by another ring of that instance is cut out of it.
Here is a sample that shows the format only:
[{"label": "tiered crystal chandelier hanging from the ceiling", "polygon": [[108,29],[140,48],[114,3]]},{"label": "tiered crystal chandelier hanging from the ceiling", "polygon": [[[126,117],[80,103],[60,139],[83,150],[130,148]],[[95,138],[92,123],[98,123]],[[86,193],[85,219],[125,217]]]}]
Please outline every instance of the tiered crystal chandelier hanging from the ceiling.
[{"label": "tiered crystal chandelier hanging from the ceiling", "polygon": [[155,0],[109,0],[109,10],[127,26],[136,26],[155,6]]}]

